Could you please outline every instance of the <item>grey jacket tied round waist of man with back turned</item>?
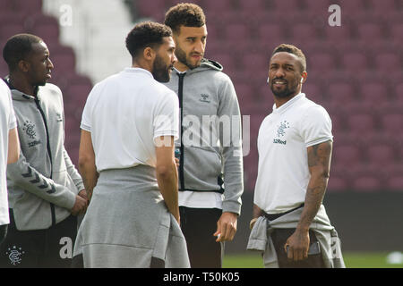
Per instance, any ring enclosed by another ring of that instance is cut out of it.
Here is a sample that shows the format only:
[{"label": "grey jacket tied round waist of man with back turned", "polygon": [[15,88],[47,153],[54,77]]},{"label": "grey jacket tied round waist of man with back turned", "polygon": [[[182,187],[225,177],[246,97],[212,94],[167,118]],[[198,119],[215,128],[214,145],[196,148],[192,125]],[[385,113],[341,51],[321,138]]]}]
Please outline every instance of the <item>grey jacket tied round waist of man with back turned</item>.
[{"label": "grey jacket tied round waist of man with back turned", "polygon": [[146,165],[99,173],[73,250],[84,267],[150,267],[152,257],[165,267],[190,267],[184,235],[155,178]]}]

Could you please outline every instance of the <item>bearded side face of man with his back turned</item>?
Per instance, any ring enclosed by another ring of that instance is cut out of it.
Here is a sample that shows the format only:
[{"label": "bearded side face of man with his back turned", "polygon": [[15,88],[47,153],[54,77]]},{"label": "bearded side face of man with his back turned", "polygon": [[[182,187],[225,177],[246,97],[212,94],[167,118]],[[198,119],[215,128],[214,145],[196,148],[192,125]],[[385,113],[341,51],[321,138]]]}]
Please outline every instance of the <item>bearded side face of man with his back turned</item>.
[{"label": "bearded side face of man with his back turned", "polygon": [[152,64],[151,73],[154,79],[159,82],[168,82],[175,62],[175,42],[172,37],[165,37]]}]

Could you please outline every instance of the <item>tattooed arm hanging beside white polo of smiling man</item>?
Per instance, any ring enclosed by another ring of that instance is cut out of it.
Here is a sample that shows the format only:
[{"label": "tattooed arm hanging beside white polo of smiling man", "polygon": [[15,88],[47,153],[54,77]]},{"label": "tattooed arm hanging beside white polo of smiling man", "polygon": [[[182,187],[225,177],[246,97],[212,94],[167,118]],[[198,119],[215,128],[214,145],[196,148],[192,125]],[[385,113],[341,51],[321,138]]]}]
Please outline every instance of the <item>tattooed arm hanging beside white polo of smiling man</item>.
[{"label": "tattooed arm hanging beside white polo of smiling man", "polygon": [[304,209],[296,231],[288,238],[284,248],[289,247],[287,257],[294,261],[308,257],[309,226],[318,213],[328,186],[332,142],[326,141],[307,148],[311,179],[306,189]]}]

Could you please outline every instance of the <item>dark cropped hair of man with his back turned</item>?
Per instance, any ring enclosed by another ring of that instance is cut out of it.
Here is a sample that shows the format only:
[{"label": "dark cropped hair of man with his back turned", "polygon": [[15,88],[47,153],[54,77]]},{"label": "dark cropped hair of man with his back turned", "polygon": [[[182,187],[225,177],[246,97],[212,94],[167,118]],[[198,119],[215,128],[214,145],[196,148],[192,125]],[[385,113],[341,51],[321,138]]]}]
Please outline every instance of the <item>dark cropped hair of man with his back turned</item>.
[{"label": "dark cropped hair of man with his back turned", "polygon": [[136,58],[148,46],[158,48],[165,37],[172,37],[169,27],[153,21],[144,21],[134,26],[125,42],[130,55]]}]

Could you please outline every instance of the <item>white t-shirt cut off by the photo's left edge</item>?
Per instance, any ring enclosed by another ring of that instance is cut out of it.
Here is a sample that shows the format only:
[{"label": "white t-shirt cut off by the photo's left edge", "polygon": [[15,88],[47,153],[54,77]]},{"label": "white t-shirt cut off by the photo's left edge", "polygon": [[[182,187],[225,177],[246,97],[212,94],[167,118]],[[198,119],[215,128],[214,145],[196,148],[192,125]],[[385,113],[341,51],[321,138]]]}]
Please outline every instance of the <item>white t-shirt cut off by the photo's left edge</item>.
[{"label": "white t-shirt cut off by the photo's left edge", "polygon": [[8,155],[8,133],[17,127],[17,119],[13,110],[11,91],[0,79],[0,225],[10,223],[8,216],[7,196],[7,155]]}]

